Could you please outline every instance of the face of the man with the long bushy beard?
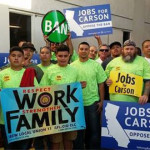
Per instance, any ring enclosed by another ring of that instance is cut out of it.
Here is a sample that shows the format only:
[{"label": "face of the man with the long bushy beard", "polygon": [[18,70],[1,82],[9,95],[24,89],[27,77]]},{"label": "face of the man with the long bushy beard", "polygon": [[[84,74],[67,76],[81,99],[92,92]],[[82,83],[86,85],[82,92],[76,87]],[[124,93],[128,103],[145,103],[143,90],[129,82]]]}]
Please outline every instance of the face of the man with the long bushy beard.
[{"label": "face of the man with the long bushy beard", "polygon": [[122,50],[122,58],[125,62],[132,62],[136,55],[136,48],[134,46],[125,46]]}]

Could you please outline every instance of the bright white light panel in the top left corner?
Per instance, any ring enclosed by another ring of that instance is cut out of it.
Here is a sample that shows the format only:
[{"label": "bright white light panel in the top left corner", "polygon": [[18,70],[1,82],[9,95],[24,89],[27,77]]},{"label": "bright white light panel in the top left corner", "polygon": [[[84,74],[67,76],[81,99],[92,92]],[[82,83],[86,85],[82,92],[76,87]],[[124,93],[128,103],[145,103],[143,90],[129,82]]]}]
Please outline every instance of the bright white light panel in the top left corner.
[{"label": "bright white light panel in the top left corner", "polygon": [[31,9],[31,0],[0,0],[0,4],[24,9]]}]

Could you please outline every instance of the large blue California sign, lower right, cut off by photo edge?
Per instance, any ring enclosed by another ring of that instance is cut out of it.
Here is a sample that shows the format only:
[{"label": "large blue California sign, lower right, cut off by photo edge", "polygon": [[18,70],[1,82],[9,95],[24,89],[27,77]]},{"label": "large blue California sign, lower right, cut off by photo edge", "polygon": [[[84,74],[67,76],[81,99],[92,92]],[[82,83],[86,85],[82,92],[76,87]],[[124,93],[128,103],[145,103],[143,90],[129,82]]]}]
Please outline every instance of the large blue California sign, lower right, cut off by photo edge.
[{"label": "large blue California sign, lower right, cut off by photo edge", "polygon": [[104,101],[101,147],[150,149],[150,104]]}]

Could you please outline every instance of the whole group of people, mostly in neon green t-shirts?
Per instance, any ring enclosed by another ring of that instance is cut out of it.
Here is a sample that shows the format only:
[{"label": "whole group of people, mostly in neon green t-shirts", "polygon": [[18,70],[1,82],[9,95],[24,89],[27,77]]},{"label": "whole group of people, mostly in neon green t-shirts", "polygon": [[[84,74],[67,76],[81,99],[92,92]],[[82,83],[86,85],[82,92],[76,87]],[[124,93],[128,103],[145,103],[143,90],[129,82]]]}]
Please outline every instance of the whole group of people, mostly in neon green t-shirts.
[{"label": "whole group of people, mostly in neon green t-shirts", "polygon": [[[100,149],[100,120],[103,100],[128,101],[145,104],[150,92],[150,40],[142,44],[143,56],[138,56],[136,44],[132,40],[115,41],[110,45],[103,44],[95,35],[98,47],[81,42],[78,50],[73,50],[71,37],[65,44],[50,43],[44,36],[46,46],[40,49],[41,63],[31,63],[35,47],[30,42],[10,49],[9,61],[0,71],[0,89],[14,87],[33,87],[59,85],[80,82],[82,86],[86,129],[22,140],[8,144],[4,130],[4,119],[0,105],[0,143],[5,149],[44,149],[47,142],[49,149]],[[141,76],[144,84],[140,97],[109,94],[108,87],[113,84],[111,71],[131,73]],[[32,79],[31,79],[32,78]],[[45,141],[43,142],[44,139]],[[50,145],[49,145],[50,143]]]}]

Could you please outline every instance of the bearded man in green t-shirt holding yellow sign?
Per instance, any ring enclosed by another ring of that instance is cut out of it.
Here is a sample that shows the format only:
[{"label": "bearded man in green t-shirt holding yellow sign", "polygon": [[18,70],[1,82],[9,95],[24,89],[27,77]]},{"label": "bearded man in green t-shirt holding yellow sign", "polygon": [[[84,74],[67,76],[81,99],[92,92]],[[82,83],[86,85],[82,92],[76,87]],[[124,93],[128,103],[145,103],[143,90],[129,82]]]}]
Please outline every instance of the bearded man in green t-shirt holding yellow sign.
[{"label": "bearded man in green t-shirt holding yellow sign", "polygon": [[[149,63],[143,57],[136,54],[136,44],[134,41],[125,41],[122,56],[113,59],[107,65],[105,72],[108,78],[111,71],[125,72],[140,76],[143,78],[144,85],[141,85],[143,86],[143,93],[140,97],[114,93],[110,94],[110,100],[138,102],[140,104],[147,103],[150,91],[150,67]],[[112,84],[112,80],[108,79],[106,84],[110,86]]]}]

